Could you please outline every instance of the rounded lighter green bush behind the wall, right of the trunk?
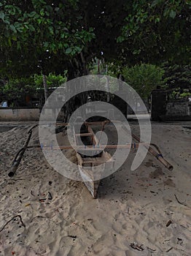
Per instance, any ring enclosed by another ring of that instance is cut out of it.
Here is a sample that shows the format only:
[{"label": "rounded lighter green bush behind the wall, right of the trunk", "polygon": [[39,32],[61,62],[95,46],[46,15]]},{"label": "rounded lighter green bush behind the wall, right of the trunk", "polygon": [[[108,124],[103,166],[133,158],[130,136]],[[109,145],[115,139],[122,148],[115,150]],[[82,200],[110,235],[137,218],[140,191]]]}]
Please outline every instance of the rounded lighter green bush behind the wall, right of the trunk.
[{"label": "rounded lighter green bush behind the wall, right of the trunk", "polygon": [[128,83],[141,98],[147,99],[156,86],[162,86],[164,70],[152,64],[135,65],[122,69],[125,82]]}]

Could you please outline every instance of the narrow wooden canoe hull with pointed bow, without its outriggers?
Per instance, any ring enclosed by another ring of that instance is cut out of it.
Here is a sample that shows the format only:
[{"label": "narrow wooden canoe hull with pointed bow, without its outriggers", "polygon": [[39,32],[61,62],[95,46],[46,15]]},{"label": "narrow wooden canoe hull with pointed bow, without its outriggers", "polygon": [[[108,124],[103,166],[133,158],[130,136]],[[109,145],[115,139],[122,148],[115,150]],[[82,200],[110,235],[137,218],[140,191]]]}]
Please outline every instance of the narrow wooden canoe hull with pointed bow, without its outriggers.
[{"label": "narrow wooden canoe hull with pointed bow, without its outriggers", "polygon": [[[108,152],[96,149],[96,147],[100,147],[101,145],[98,138],[96,138],[93,129],[88,124],[84,124],[83,126],[85,128],[84,132],[78,134],[76,133],[76,127],[74,126],[74,143],[76,146],[80,146],[79,137],[81,139],[84,138],[87,146],[93,146],[93,148],[95,147],[95,150],[90,148],[90,156],[87,154],[87,151],[89,151],[88,148],[80,150],[80,153],[77,152],[79,173],[90,194],[93,198],[96,198],[101,178],[104,178],[104,170],[111,170],[112,173],[114,160]],[[101,171],[96,173],[95,176],[95,167],[98,165],[101,165]]]}]

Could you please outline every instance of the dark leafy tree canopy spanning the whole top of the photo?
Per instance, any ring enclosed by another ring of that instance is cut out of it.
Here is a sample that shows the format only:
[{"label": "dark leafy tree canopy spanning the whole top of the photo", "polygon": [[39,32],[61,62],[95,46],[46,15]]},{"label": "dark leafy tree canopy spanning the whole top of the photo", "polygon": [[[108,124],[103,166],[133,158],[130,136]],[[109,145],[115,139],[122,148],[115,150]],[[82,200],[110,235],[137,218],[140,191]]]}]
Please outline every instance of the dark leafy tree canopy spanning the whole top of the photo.
[{"label": "dark leafy tree canopy spanning the whole top of the photo", "polygon": [[189,8],[182,0],[1,0],[1,75],[68,69],[73,78],[93,57],[187,64]]}]

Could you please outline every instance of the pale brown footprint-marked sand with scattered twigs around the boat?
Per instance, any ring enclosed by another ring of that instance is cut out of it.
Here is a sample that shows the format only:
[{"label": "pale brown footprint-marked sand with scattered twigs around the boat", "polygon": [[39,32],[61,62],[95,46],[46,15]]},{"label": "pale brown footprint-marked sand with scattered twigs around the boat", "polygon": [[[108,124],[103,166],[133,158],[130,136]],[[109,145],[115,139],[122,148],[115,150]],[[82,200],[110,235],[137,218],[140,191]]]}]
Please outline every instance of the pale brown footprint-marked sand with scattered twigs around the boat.
[{"label": "pale brown footprint-marked sand with scattered twigs around the boat", "polygon": [[[152,143],[173,171],[150,154],[131,171],[131,152],[101,181],[98,199],[53,170],[42,151],[26,151],[17,174],[7,176],[29,127],[0,133],[0,230],[17,215],[25,225],[16,217],[1,230],[0,256],[191,255],[191,130],[183,128],[189,122],[152,123]],[[31,145],[37,135],[38,129]]]}]

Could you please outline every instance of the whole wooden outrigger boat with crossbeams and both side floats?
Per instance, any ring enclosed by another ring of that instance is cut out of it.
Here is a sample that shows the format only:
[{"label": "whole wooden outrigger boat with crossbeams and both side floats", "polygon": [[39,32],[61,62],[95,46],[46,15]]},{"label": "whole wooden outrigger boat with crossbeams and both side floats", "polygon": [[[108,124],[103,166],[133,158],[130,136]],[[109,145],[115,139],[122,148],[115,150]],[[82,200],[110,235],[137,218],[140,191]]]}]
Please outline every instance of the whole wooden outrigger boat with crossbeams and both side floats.
[{"label": "whole wooden outrigger boat with crossbeams and both side floats", "polygon": [[[73,125],[73,135],[74,135],[74,146],[43,146],[43,148],[46,148],[47,150],[67,150],[67,149],[74,149],[77,154],[77,162],[79,167],[79,173],[82,177],[82,181],[84,182],[85,186],[89,190],[90,194],[93,196],[93,198],[96,198],[98,195],[98,187],[101,181],[101,178],[103,176],[100,173],[100,176],[96,176],[96,178],[93,175],[93,168],[95,168],[98,165],[104,166],[106,170],[112,170],[114,167],[114,159],[112,159],[112,156],[109,154],[109,152],[106,151],[106,149],[109,148],[139,148],[139,146],[145,146],[150,154],[152,154],[160,163],[162,163],[168,170],[173,170],[173,166],[164,159],[163,154],[161,153],[160,149],[153,143],[142,143],[140,138],[134,134],[131,134],[134,140],[136,140],[138,143],[129,143],[125,145],[101,145],[100,140],[101,138],[97,138],[93,132],[92,125],[101,125],[101,132],[103,132],[104,127],[106,124],[109,124],[111,122],[119,122],[119,121],[93,121],[93,122],[84,122],[83,123],[83,129],[80,130],[80,133],[76,132],[76,128],[79,125],[78,123]],[[121,123],[121,122],[120,122]],[[121,123],[122,124],[122,123]],[[37,127],[39,124],[36,124],[34,127],[31,127],[28,131],[28,138],[26,139],[26,143],[24,144],[23,148],[20,148],[20,150],[17,152],[15,159],[12,162],[11,170],[8,173],[9,177],[12,177],[15,175],[17,167],[20,164],[20,160],[23,158],[23,154],[25,153],[26,149],[29,148],[39,148],[41,149],[42,146],[40,145],[34,145],[34,146],[28,146],[28,143],[31,139],[32,131],[35,127]],[[66,127],[69,127],[70,124],[66,123],[57,123],[56,127],[59,131],[62,131],[63,129],[66,129]],[[124,127],[125,129],[125,127]],[[125,129],[126,130],[126,129]],[[128,132],[126,130],[126,132]],[[81,140],[79,140],[79,138]],[[82,143],[83,138],[85,138],[85,145]],[[155,148],[155,149],[154,149]],[[91,154],[88,154],[90,153]],[[88,157],[87,157],[88,155]],[[104,170],[103,170],[104,172]]]}]

